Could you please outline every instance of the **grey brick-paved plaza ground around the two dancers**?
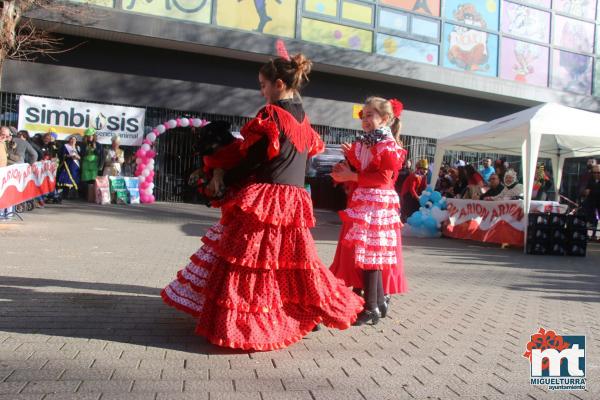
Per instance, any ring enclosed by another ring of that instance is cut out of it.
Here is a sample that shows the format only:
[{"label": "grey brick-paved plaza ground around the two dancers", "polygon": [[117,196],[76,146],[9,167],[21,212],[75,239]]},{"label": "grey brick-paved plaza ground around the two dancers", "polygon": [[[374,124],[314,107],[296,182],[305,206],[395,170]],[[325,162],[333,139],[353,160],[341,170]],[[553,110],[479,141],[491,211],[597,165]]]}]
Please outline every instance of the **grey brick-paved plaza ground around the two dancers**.
[{"label": "grey brick-paved plaza ground around the two dancers", "polygon": [[[410,292],[375,327],[324,329],[281,351],[207,344],[160,289],[218,210],[48,206],[0,224],[0,399],[600,399],[600,246],[526,256],[406,238]],[[340,225],[317,211],[319,254]],[[587,391],[529,383],[540,327],[586,335]]]}]

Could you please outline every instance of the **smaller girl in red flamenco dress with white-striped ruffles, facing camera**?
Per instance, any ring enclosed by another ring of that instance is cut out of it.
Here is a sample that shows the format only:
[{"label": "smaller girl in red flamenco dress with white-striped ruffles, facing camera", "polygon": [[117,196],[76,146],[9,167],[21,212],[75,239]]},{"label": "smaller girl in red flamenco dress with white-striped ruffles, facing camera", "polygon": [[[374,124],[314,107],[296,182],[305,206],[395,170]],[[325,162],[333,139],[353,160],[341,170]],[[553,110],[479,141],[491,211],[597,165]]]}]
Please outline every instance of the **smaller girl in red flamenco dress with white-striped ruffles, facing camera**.
[{"label": "smaller girl in red flamenco dress with white-striped ruffles, facing camera", "polygon": [[368,98],[361,115],[365,133],[351,146],[343,146],[348,162],[331,174],[337,182],[356,185],[348,208],[340,212],[342,231],[330,268],[348,286],[364,289],[365,307],[356,325],[376,324],[387,314],[385,295],[407,290],[400,204],[394,189],[406,158],[399,144],[401,112],[398,100]]}]

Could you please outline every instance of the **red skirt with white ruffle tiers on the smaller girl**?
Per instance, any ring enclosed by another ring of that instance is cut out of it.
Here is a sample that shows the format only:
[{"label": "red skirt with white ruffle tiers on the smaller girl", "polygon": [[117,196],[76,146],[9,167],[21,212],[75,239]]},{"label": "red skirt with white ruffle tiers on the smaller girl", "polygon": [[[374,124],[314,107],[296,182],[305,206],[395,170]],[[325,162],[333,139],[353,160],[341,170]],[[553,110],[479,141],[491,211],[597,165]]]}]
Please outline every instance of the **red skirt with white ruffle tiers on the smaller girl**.
[{"label": "red skirt with white ruffle tiers on the smaller girl", "polygon": [[363,287],[363,270],[382,270],[386,294],[408,290],[402,261],[402,223],[394,190],[357,188],[340,212],[342,231],[331,272],[346,285]]}]

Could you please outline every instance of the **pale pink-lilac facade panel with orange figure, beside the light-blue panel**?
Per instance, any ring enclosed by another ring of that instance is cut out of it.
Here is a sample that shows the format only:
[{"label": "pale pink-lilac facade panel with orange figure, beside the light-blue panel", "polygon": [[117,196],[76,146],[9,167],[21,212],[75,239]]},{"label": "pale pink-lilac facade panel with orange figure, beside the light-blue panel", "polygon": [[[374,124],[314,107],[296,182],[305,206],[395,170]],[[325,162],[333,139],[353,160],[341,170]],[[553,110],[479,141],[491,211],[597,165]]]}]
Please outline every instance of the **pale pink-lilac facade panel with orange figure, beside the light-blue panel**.
[{"label": "pale pink-lilac facade panel with orange figure, beside the light-blue panel", "polygon": [[509,38],[502,38],[500,46],[500,78],[548,86],[547,47]]}]

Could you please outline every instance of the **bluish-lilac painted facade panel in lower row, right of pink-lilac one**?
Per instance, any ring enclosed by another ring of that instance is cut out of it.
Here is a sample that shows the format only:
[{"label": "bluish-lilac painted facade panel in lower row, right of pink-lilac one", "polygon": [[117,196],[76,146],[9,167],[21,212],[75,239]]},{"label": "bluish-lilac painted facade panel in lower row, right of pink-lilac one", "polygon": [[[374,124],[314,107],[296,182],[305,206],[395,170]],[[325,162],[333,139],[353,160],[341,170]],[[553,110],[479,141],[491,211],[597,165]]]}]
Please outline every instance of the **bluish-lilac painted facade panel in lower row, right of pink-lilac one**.
[{"label": "bluish-lilac painted facade panel in lower row, right of pink-lilac one", "polygon": [[554,89],[590,94],[592,89],[592,57],[568,51],[552,51],[552,83]]}]

